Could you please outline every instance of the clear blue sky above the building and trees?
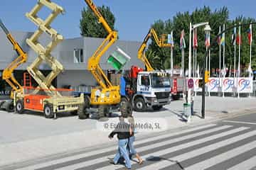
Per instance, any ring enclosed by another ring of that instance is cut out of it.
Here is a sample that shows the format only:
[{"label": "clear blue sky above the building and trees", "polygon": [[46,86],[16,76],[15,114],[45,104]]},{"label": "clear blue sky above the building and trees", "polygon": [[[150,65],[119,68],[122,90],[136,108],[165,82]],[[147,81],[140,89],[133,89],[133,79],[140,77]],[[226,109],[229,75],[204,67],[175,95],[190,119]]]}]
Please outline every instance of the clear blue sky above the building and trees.
[{"label": "clear blue sky above the building and trees", "polygon": [[[52,0],[65,8],[65,14],[58,16],[51,25],[64,38],[80,36],[80,18],[85,1]],[[245,16],[256,18],[255,0],[93,0],[97,6],[110,6],[116,18],[115,28],[120,40],[142,41],[156,20],[166,21],[176,13],[210,6],[212,10],[227,6],[230,18]],[[29,21],[25,13],[31,11],[37,0],[1,0],[0,18],[12,31],[34,31],[36,26]],[[50,13],[43,9],[39,16],[45,18]]]}]

